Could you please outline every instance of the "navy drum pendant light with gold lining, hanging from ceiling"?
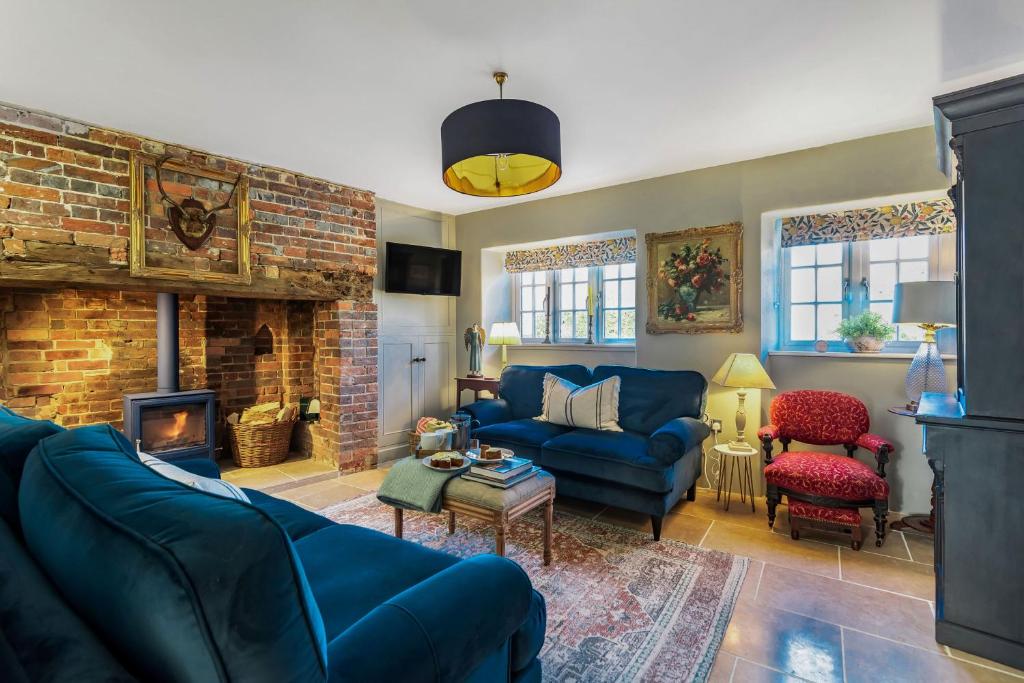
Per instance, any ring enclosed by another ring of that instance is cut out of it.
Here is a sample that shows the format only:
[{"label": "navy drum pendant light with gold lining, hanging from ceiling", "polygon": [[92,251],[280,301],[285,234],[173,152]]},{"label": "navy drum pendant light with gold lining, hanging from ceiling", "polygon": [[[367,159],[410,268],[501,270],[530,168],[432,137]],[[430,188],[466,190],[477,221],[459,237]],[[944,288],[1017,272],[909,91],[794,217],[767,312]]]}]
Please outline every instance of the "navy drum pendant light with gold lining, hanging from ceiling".
[{"label": "navy drum pendant light with gold lining, hanging from ceiling", "polygon": [[517,197],[562,175],[558,117],[536,102],[505,99],[506,80],[496,73],[498,99],[467,104],[441,124],[441,177],[457,193]]}]

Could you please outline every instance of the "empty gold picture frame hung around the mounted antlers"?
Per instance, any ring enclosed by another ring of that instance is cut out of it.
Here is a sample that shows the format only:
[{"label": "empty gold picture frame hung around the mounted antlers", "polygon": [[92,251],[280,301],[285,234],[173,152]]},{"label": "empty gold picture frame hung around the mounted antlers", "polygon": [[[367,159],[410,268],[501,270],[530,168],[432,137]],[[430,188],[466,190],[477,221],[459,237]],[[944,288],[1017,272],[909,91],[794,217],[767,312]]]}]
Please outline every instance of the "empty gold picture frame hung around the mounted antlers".
[{"label": "empty gold picture frame hung around the mounted antlers", "polygon": [[[218,182],[238,182],[234,191],[234,212],[237,216],[234,238],[237,254],[237,271],[221,272],[215,270],[200,270],[177,268],[166,265],[146,263],[146,167],[156,168],[157,158],[142,153],[132,153],[130,162],[130,199],[131,222],[128,263],[132,278],[154,278],[159,280],[179,280],[223,285],[251,285],[252,263],[251,246],[249,242],[252,229],[252,214],[249,207],[249,178],[222,171],[201,168],[184,164],[175,159],[168,159],[163,168],[171,172],[183,173],[197,178],[205,178]],[[168,240],[168,243],[170,241]],[[180,244],[178,242],[177,244]],[[205,249],[205,247],[203,248]],[[201,250],[197,250],[200,252]]]}]

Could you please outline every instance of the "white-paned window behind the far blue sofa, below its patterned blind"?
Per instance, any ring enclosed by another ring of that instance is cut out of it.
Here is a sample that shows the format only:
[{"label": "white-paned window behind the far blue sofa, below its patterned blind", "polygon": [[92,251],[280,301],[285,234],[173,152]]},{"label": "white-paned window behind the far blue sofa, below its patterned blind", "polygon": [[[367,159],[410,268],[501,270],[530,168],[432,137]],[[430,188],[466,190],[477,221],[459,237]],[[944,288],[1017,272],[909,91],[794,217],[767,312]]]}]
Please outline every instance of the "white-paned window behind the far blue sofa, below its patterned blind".
[{"label": "white-paned window behind the far blue sofa, below its patterned blind", "polygon": [[560,268],[519,272],[516,282],[516,318],[527,344],[544,341],[548,287],[554,293],[551,307],[551,341],[582,344],[587,341],[587,297],[600,292],[595,304],[594,341],[632,344],[636,340],[636,264]]}]

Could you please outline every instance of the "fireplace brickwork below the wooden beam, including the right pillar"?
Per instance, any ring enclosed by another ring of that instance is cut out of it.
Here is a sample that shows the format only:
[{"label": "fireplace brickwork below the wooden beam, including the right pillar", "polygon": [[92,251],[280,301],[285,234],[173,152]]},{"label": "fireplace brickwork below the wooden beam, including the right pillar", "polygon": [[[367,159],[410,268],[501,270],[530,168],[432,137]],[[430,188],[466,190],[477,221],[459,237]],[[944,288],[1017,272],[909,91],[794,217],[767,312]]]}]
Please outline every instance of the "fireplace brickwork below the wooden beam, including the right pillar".
[{"label": "fireplace brickwork below the wooden beam, including the right pillar", "polygon": [[[156,388],[156,316],[155,294],[0,289],[0,400],[66,427],[120,427],[123,395]],[[331,344],[319,352],[314,317]],[[294,449],[344,469],[376,462],[372,304],[181,297],[179,325],[182,389],[216,391],[221,416],[318,390],[324,420],[300,425]],[[257,354],[263,326],[270,352]]]}]

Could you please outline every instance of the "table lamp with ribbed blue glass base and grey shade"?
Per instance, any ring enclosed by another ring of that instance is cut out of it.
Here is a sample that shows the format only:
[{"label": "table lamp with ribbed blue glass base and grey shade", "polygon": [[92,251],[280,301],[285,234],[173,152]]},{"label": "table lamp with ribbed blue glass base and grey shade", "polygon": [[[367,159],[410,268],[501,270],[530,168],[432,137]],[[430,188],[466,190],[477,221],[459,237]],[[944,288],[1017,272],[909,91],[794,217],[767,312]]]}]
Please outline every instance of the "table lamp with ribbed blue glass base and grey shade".
[{"label": "table lamp with ribbed blue glass base and grey shade", "polygon": [[946,392],[946,369],[935,343],[935,333],[956,325],[956,286],[947,281],[899,283],[893,294],[893,323],[916,325],[925,340],[906,373],[907,410],[916,411],[921,394]]}]

